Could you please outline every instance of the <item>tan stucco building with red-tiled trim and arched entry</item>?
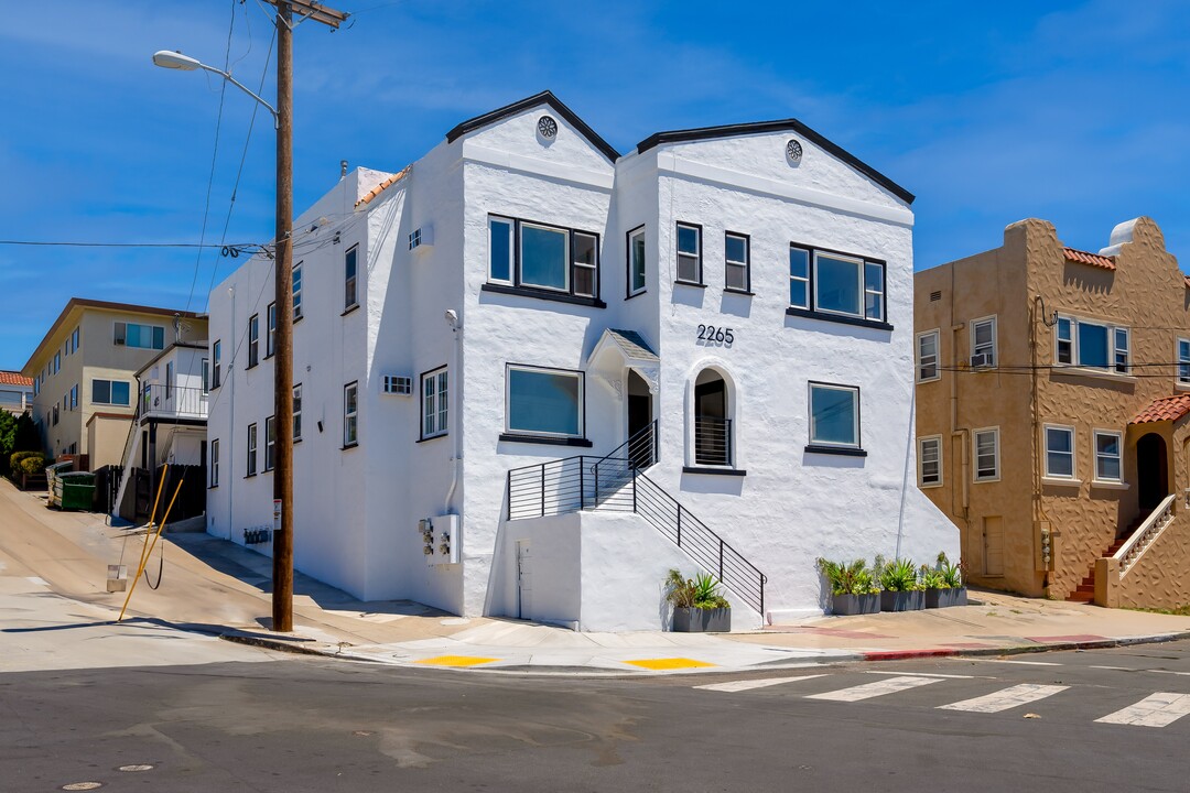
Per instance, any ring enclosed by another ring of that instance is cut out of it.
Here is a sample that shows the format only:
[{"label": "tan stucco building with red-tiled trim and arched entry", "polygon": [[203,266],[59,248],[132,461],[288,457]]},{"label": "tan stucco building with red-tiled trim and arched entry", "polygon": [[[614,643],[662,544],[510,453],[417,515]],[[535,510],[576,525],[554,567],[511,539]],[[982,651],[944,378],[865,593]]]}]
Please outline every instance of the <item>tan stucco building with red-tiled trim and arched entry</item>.
[{"label": "tan stucco building with red-tiled trim and arched entry", "polygon": [[1013,224],[916,273],[914,298],[917,483],[969,580],[1190,603],[1190,281],[1157,224],[1097,253]]}]

